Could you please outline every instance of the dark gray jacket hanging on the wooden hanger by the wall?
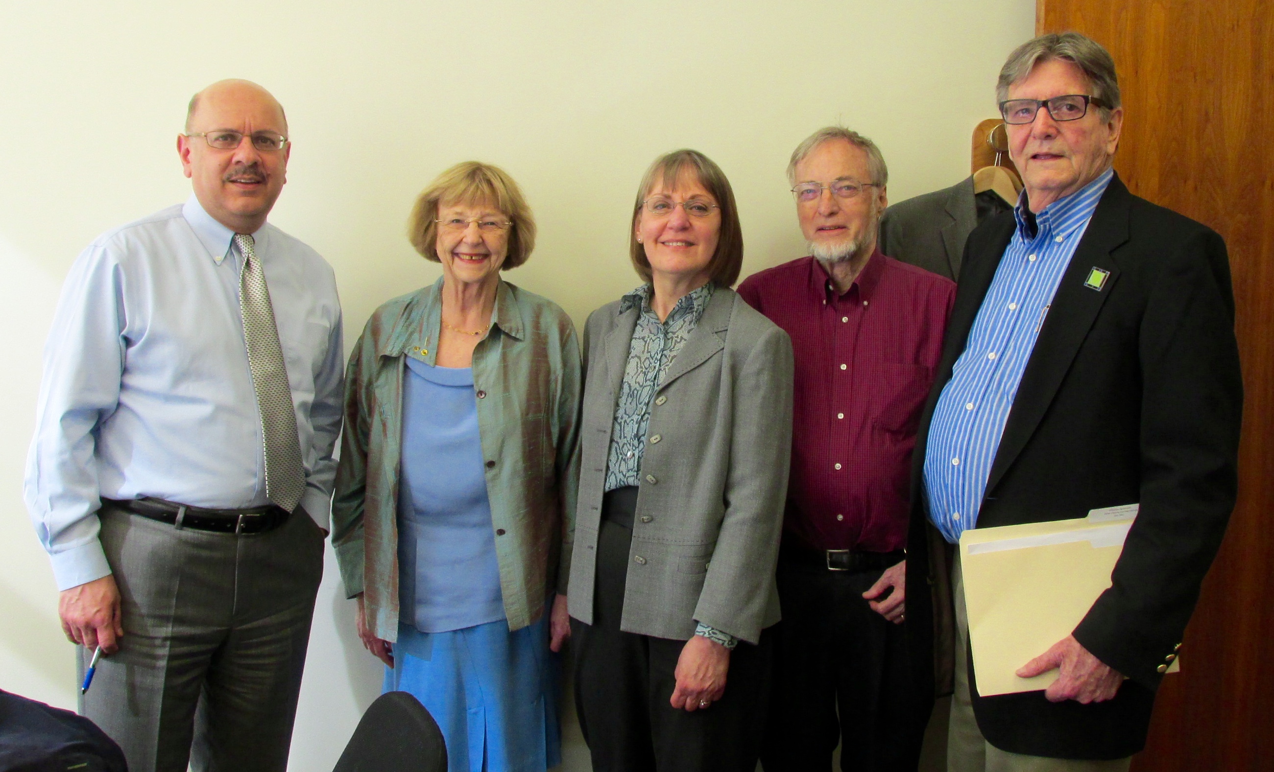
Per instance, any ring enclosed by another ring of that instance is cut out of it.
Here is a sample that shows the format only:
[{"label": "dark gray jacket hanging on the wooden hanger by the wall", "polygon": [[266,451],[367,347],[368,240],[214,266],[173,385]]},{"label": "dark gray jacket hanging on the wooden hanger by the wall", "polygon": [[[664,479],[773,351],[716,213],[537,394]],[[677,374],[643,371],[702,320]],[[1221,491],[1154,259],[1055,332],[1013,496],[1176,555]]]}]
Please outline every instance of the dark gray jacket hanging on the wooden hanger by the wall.
[{"label": "dark gray jacket hanging on the wooden hanger by the wall", "polygon": [[977,225],[973,177],[884,210],[880,251],[926,271],[954,280],[964,241]]}]

